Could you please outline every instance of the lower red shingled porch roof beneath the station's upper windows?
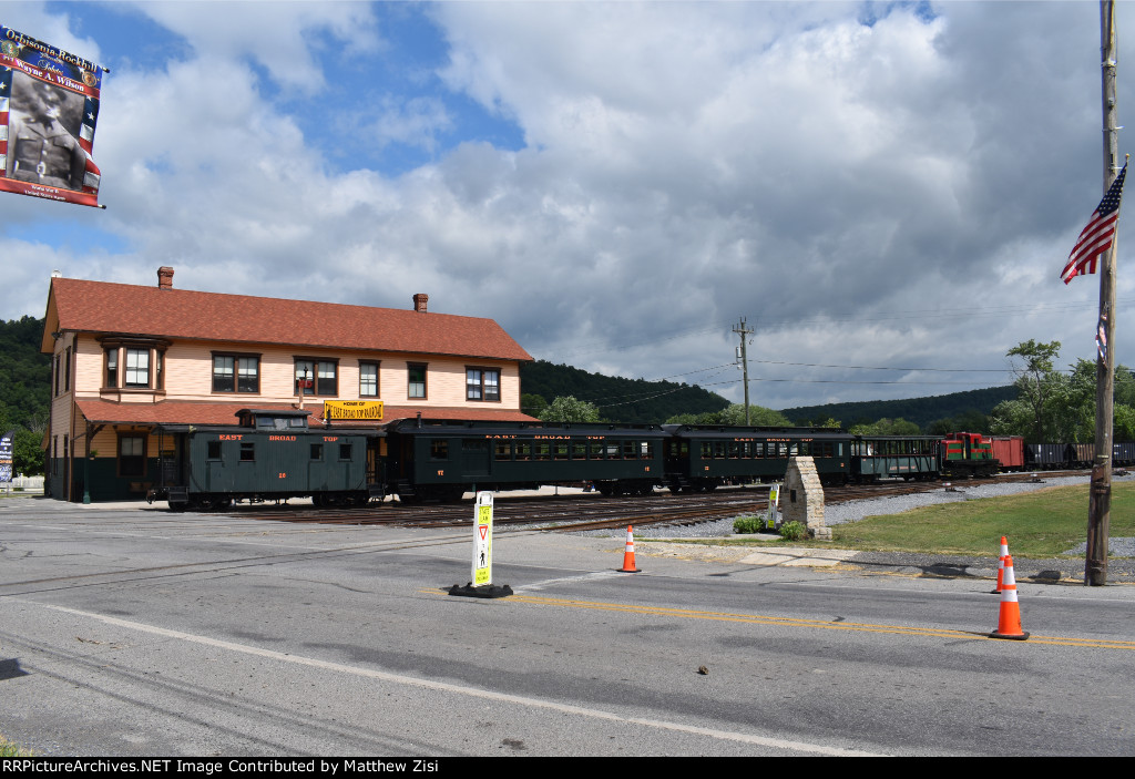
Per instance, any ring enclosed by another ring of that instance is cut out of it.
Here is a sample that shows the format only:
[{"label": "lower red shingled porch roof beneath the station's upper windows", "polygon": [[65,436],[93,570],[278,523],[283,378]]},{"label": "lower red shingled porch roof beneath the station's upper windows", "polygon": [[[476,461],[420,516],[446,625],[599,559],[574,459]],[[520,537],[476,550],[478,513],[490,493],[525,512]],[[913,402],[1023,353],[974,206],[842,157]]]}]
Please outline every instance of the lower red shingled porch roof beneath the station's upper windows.
[{"label": "lower red shingled porch roof beneath the station's upper windows", "polygon": [[[76,400],[76,405],[87,422],[94,424],[192,424],[235,425],[236,413],[242,408],[294,410],[294,405],[263,403],[203,403],[192,400],[161,400],[159,403],[112,403],[110,400]],[[308,423],[312,427],[322,425],[320,415],[323,404],[309,401],[304,408],[311,412]],[[424,420],[476,420],[485,422],[535,422],[536,417],[520,412],[494,410],[489,408],[443,408],[423,406],[385,406],[382,422],[414,418],[421,412]],[[336,422],[336,425],[368,427],[367,423]]]}]

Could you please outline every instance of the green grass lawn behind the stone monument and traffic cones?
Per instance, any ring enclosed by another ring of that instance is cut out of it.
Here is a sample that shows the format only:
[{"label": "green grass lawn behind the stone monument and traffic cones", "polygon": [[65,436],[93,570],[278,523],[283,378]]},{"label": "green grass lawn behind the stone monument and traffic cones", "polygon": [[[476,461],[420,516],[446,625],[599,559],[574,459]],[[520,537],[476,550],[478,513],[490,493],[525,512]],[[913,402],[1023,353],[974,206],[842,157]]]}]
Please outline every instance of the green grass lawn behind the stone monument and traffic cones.
[{"label": "green grass lawn behind the stone monument and traffic cones", "polygon": [[[997,554],[1004,535],[1014,557],[1061,557],[1087,540],[1087,484],[1052,486],[866,517],[832,525],[832,542],[793,542],[793,545],[989,557]],[[1135,483],[1111,485],[1108,535],[1135,536]],[[730,543],[784,543],[768,540],[767,535],[762,537],[765,540]]]}]

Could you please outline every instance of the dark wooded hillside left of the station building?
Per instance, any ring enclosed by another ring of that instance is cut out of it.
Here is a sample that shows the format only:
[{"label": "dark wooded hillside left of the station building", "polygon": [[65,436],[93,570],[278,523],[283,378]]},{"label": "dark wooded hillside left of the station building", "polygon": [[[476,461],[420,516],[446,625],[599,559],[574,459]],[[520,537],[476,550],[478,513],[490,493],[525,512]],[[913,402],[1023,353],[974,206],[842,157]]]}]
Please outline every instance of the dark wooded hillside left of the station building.
[{"label": "dark wooded hillside left of the station building", "polygon": [[40,354],[43,320],[0,320],[0,426],[42,431],[51,401],[51,355]]}]

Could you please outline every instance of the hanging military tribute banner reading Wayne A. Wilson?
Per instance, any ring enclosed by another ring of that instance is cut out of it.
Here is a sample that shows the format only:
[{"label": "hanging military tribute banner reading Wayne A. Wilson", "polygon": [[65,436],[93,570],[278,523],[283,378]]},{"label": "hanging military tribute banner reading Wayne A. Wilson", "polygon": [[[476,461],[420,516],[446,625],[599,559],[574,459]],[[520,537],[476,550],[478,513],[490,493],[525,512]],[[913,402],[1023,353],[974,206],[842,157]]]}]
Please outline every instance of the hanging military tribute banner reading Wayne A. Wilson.
[{"label": "hanging military tribute banner reading Wayne A. Wilson", "polygon": [[0,25],[0,192],[99,205],[104,68]]}]

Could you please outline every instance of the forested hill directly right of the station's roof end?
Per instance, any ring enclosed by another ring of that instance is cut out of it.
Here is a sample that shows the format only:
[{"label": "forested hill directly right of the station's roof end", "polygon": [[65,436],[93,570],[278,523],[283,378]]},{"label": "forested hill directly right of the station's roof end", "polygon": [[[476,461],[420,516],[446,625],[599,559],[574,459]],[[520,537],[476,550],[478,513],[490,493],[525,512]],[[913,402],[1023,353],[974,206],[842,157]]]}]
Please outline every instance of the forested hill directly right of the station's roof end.
[{"label": "forested hill directly right of the station's roof end", "polygon": [[[543,404],[572,396],[599,407],[604,420],[633,424],[662,423],[678,414],[720,412],[729,400],[697,386],[671,381],[620,379],[588,373],[546,359],[520,366],[521,410],[539,415]],[[531,396],[539,396],[539,399]]]}]

